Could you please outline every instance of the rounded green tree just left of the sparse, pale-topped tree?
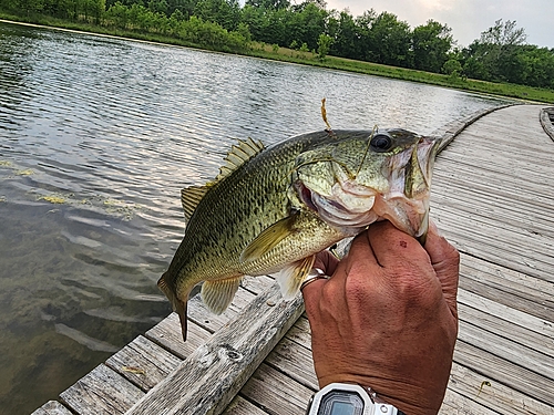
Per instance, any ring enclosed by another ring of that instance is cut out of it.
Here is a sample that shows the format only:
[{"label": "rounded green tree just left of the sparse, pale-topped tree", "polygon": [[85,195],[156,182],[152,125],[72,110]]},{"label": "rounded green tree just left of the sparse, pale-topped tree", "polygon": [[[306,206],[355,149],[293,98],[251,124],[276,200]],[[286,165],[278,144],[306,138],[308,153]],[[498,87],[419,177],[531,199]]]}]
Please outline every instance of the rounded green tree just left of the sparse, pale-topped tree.
[{"label": "rounded green tree just left of the sparse, pale-topped tree", "polygon": [[452,49],[452,29],[434,20],[413,29],[413,65],[421,71],[440,73]]}]

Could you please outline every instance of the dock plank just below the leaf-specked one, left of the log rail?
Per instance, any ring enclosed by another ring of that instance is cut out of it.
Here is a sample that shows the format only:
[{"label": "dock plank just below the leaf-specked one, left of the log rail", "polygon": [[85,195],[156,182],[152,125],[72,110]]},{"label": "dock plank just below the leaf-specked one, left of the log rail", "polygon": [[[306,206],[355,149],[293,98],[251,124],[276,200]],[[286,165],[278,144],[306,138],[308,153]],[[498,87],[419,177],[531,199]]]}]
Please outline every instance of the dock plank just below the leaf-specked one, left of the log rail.
[{"label": "dock plank just below the leaf-specked one, left of the log rail", "polygon": [[60,394],[61,402],[79,415],[123,414],[143,396],[143,391],[104,364]]}]

